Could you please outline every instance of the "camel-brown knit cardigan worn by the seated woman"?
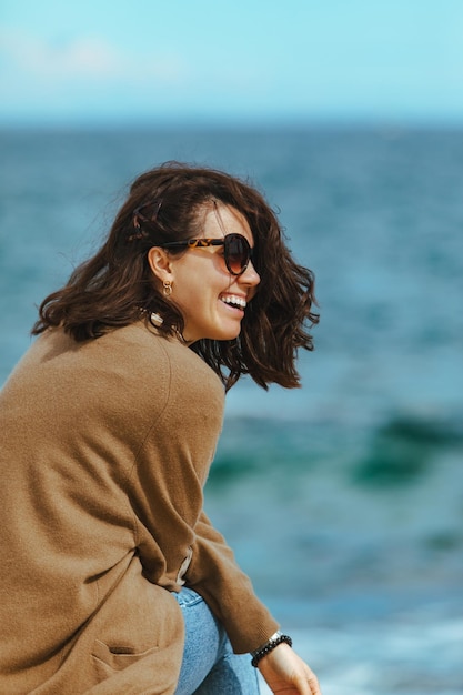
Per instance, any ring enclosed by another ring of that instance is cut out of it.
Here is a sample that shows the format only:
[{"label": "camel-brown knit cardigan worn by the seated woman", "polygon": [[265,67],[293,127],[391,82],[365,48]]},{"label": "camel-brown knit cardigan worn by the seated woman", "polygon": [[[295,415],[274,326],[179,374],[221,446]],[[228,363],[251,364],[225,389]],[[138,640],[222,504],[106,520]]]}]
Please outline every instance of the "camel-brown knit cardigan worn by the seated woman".
[{"label": "camel-brown knit cardigan worn by the seated woman", "polygon": [[223,401],[141,322],[32,344],[0,394],[0,695],[174,693],[183,582],[236,652],[273,634],[202,511]]}]

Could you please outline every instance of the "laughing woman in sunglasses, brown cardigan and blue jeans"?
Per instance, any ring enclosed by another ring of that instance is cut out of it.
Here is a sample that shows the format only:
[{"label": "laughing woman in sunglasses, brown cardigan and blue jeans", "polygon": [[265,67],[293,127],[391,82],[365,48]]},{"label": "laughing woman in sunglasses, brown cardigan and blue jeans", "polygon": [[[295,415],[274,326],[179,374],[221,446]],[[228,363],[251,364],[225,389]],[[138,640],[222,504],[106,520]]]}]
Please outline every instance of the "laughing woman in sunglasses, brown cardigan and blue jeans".
[{"label": "laughing woman in sunglasses, brown cardigan and blue jeans", "polygon": [[134,181],[1,394],[1,693],[320,694],[202,510],[224,391],[298,386],[312,301],[253,188]]}]

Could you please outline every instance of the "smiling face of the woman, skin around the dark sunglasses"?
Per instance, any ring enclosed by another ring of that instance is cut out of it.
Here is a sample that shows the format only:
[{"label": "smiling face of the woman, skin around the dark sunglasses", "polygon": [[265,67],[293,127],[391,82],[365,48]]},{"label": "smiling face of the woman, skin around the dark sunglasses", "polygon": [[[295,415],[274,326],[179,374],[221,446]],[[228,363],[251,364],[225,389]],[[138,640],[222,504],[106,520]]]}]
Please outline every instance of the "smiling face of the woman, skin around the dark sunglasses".
[{"label": "smiling face of the woman, skin around the dark sunglasses", "polygon": [[[242,234],[251,248],[254,245],[244,215],[234,208],[218,205],[205,212],[198,238],[223,239],[232,233]],[[170,254],[169,259],[171,299],[183,315],[185,341],[191,344],[203,338],[236,338],[245,305],[260,282],[252,261],[241,275],[232,275],[224,262],[223,246],[189,249],[180,256]]]}]

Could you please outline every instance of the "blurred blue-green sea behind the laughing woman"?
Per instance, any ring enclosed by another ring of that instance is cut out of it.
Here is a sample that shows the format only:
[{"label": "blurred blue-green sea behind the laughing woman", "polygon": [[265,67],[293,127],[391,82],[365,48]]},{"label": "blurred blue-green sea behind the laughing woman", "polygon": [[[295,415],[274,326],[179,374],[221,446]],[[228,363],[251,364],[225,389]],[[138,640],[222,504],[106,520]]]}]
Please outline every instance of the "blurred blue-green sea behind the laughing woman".
[{"label": "blurred blue-green sea behind the laughing woman", "polygon": [[300,389],[228,394],[205,508],[324,695],[462,694],[463,129],[3,129],[0,152],[0,383],[139,173],[265,193],[315,350]]}]

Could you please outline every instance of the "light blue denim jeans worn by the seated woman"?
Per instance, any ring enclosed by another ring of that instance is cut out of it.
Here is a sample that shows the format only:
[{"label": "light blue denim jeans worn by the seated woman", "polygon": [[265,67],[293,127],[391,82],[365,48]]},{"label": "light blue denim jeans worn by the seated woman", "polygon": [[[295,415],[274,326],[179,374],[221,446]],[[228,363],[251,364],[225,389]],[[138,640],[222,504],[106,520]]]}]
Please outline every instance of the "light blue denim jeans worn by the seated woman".
[{"label": "light blue denim jeans worn by the seated woman", "polygon": [[219,621],[197,592],[173,594],[185,624],[185,646],[175,695],[259,695],[249,654],[233,654]]}]

